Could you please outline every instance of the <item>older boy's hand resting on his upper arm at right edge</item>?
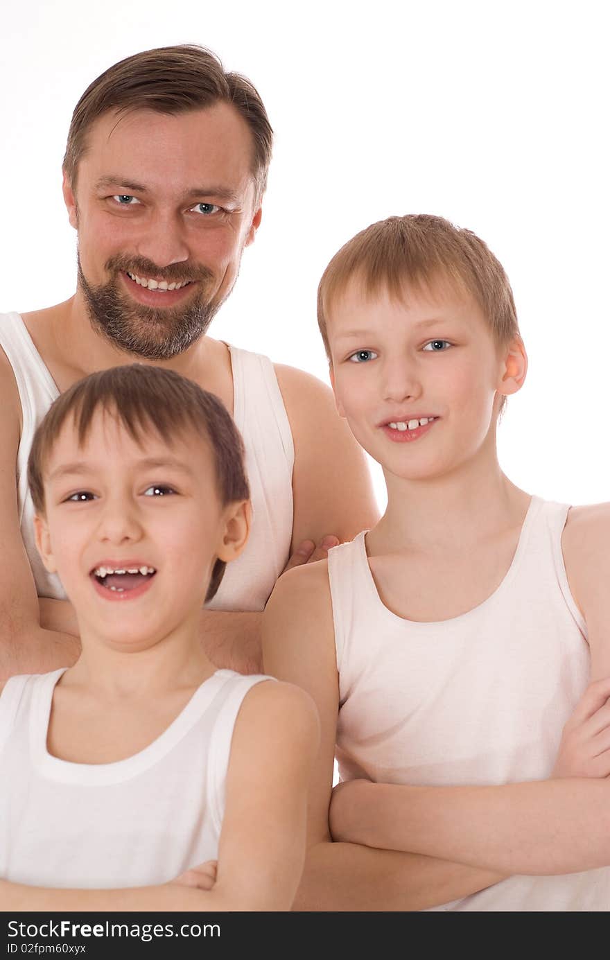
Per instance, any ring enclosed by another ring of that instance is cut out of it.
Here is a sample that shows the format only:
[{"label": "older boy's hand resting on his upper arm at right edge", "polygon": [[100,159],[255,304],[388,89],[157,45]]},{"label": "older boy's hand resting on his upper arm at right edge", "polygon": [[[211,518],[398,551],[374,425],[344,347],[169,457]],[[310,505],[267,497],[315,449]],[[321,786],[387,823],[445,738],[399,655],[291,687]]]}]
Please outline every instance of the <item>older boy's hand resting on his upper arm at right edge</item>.
[{"label": "older boy's hand resting on his upper arm at right edge", "polygon": [[552,778],[610,776],[609,698],[610,678],[589,684],[563,729]]}]

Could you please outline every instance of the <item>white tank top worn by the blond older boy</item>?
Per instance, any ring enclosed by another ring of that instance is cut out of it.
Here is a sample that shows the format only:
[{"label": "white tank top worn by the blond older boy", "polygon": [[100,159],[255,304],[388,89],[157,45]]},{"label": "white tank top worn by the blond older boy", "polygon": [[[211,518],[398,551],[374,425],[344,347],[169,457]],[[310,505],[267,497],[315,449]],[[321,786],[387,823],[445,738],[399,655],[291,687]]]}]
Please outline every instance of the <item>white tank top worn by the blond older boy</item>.
[{"label": "white tank top worn by the blond older boy", "polygon": [[[329,551],[341,780],[435,786],[549,777],[589,679],[586,627],[561,550],[568,510],[533,497],[500,587],[440,623],[405,620],[381,603],[364,533]],[[434,909],[606,911],[610,868],[512,876]]]}]

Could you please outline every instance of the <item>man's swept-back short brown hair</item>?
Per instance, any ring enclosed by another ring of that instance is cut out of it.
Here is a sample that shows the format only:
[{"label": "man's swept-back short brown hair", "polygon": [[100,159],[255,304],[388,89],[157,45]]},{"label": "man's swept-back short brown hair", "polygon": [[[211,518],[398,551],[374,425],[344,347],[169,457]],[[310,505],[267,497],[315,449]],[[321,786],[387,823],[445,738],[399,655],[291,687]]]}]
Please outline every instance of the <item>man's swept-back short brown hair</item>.
[{"label": "man's swept-back short brown hair", "polygon": [[252,173],[256,196],[267,183],[273,130],[256,87],[238,73],[226,73],[220,60],[195,44],[145,50],[114,63],[89,84],[79,100],[68,132],[63,170],[74,187],[79,160],[86,152],[91,124],[110,110],[121,115],[136,109],[175,115],[232,104],[253,138]]}]

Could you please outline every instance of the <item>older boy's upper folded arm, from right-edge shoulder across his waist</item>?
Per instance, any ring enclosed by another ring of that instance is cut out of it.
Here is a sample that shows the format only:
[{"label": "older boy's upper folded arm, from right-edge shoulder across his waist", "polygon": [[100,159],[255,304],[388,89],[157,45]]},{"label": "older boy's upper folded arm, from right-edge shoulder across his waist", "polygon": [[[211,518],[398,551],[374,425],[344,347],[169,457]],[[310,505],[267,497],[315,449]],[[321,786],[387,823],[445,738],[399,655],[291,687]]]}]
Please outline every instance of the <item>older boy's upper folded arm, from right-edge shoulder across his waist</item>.
[{"label": "older boy's upper folded arm, from right-edge shoulder across his waist", "polygon": [[[333,836],[506,873],[550,875],[610,865],[609,537],[610,505],[570,512],[562,548],[573,598],[587,624],[594,684],[566,725],[554,779],[485,787],[346,784],[333,798]],[[571,779],[556,779],[570,772]]]}]

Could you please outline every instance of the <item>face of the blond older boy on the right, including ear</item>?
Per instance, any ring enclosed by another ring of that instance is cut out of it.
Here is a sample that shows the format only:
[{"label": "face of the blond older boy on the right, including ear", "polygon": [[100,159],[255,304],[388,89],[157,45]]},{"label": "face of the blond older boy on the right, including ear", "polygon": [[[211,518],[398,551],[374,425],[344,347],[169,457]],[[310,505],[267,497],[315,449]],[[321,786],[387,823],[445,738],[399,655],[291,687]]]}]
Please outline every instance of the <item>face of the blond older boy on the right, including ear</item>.
[{"label": "face of the blond older boy on the right, including ear", "polygon": [[471,297],[440,282],[403,300],[367,297],[352,282],[328,335],[339,413],[387,471],[432,479],[495,451],[498,392],[519,389],[525,352],[498,347]]}]

